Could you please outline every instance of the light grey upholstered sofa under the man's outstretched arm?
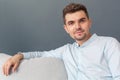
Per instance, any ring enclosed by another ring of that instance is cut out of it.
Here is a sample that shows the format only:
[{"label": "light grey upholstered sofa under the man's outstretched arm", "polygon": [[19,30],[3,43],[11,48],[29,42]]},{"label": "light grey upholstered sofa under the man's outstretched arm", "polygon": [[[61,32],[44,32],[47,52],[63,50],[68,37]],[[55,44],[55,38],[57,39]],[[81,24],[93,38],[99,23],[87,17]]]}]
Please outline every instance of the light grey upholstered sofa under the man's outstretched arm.
[{"label": "light grey upholstered sofa under the man's outstretched arm", "polygon": [[62,60],[56,58],[32,58],[22,60],[17,71],[3,75],[2,65],[11,56],[0,53],[0,80],[67,80]]}]

